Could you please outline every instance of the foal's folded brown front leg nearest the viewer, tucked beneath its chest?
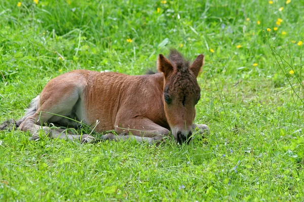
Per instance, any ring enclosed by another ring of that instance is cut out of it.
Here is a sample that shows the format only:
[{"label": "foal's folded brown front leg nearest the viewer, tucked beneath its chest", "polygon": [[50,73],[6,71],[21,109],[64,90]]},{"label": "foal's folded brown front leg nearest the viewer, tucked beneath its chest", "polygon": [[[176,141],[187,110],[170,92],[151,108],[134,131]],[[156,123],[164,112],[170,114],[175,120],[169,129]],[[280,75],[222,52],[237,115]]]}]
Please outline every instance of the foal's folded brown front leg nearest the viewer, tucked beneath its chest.
[{"label": "foal's folded brown front leg nearest the viewer, tucked beneath its chest", "polygon": [[[158,144],[163,140],[163,137],[168,136],[170,132],[168,129],[157,125],[148,118],[135,118],[124,121],[124,123],[126,124],[117,124],[115,126],[115,130],[119,135],[108,133],[102,135],[101,139],[118,141],[132,138],[138,142],[144,141],[149,144]],[[129,132],[131,132],[132,135],[128,135]]]}]

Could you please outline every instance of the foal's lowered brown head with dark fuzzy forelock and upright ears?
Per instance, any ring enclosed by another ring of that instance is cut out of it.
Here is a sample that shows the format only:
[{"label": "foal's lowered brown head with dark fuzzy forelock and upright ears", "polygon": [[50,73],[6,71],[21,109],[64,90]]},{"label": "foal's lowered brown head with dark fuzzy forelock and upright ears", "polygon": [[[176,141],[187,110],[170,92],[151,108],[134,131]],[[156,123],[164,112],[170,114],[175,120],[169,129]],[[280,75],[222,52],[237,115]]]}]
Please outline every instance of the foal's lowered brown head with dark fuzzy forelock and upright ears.
[{"label": "foal's lowered brown head with dark fuzzy forelock and upright ears", "polygon": [[190,64],[177,51],[170,53],[169,60],[159,56],[158,69],[164,73],[164,108],[174,138],[188,142],[192,135],[195,105],[199,102],[201,89],[197,76],[203,66],[204,55]]}]

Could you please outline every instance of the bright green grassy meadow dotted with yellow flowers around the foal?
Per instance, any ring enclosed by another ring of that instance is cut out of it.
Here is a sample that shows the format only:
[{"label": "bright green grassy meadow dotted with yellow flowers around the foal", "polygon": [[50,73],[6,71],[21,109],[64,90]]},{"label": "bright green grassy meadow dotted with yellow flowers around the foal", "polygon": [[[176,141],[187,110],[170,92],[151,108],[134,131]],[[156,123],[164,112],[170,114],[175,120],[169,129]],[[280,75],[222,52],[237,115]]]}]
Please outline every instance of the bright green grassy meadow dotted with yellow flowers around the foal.
[{"label": "bright green grassy meadow dotted with yellow flowers around the foal", "polygon": [[160,146],[0,131],[1,201],[304,199],[300,1],[36,3],[0,0],[0,122],[59,74],[144,74],[173,47],[205,55],[195,122],[211,131]]}]

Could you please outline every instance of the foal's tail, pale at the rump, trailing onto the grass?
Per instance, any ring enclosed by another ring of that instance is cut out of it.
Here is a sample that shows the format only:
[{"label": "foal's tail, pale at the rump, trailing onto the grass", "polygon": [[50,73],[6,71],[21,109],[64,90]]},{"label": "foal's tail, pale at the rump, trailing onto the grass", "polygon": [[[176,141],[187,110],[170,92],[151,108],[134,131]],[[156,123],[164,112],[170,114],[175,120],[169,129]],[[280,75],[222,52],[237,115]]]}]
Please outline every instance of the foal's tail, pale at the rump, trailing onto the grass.
[{"label": "foal's tail, pale at the rump, trailing onto the grass", "polygon": [[39,101],[39,95],[36,96],[35,98],[32,99],[29,108],[26,109],[26,113],[24,115],[24,117],[22,117],[19,120],[14,120],[14,119],[10,119],[7,120],[5,122],[3,122],[2,124],[0,124],[0,130],[12,130],[13,128],[19,128],[20,124],[29,116],[35,114],[35,112],[37,111],[36,106],[37,106],[37,102]]}]

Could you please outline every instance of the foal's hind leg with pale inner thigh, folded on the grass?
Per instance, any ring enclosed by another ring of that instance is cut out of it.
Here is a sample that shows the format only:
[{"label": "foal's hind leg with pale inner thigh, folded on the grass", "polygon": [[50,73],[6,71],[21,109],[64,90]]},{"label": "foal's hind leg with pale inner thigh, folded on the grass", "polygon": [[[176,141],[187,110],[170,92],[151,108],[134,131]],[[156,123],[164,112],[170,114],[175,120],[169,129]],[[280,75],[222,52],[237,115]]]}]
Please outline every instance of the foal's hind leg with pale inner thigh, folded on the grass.
[{"label": "foal's hind leg with pale inner thigh, folded on the grass", "polygon": [[46,85],[39,98],[35,100],[35,107],[33,109],[35,113],[28,116],[20,124],[20,130],[29,131],[32,134],[32,139],[38,139],[38,132],[43,130],[52,138],[66,138],[70,140],[77,139],[81,140],[81,142],[91,142],[95,138],[90,135],[74,135],[63,129],[43,126],[46,122],[58,123],[59,125],[67,126],[69,123],[64,117],[74,116],[73,111],[75,109],[82,108],[82,105],[80,105],[82,80],[80,78],[76,78],[78,79],[78,82],[75,82],[75,74],[73,73],[62,75],[61,77],[59,76],[52,79]]}]

